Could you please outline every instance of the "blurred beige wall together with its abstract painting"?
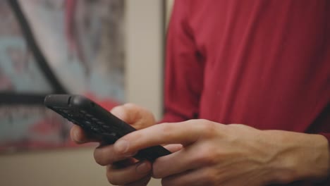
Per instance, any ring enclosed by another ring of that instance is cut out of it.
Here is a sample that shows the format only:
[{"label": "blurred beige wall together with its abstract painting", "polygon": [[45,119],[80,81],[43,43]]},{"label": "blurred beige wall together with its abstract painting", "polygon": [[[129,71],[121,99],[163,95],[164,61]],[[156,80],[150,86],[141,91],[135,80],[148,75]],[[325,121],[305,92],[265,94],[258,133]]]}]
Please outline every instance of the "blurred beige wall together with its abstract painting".
[{"label": "blurred beige wall together with its abstract painting", "polygon": [[133,102],[161,118],[172,4],[0,1],[0,185],[109,185],[96,144],[73,144],[72,124],[42,99],[84,94],[106,109]]}]

